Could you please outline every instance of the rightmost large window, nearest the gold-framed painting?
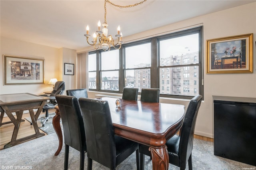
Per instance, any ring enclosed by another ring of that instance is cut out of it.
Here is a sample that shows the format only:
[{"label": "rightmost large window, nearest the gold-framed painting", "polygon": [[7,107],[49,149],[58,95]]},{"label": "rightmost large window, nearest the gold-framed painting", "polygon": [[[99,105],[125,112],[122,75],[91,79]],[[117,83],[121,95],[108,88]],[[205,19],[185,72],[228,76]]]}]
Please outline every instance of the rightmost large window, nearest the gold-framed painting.
[{"label": "rightmost large window, nearest the gold-framed painting", "polygon": [[[197,89],[197,94],[202,94],[202,84],[190,85],[192,82],[200,82],[202,76],[201,61],[202,61],[202,32],[198,29],[177,32],[174,34],[161,36],[158,38],[159,48],[159,66],[160,69],[168,68],[170,70],[170,95],[194,96],[194,91],[190,92],[191,88]],[[170,62],[167,62],[170,61]],[[191,77],[194,75],[193,77]],[[165,79],[160,77],[160,81]],[[180,84],[180,80],[183,82]],[[187,87],[186,87],[187,86]],[[183,92],[178,90],[183,88]],[[167,94],[168,92],[161,92]]]}]

